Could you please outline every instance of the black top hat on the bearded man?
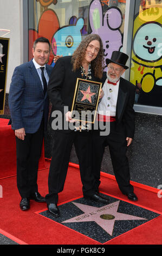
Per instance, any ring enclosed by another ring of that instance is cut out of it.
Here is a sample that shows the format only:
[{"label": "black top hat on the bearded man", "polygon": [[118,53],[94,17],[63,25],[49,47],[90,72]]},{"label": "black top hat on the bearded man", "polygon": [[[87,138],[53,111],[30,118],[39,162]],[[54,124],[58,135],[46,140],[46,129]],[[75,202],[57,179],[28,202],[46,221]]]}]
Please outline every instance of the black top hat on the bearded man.
[{"label": "black top hat on the bearded man", "polygon": [[106,59],[106,65],[113,62],[120,66],[123,66],[124,69],[128,69],[129,67],[125,65],[128,58],[128,55],[123,52],[113,51],[111,59]]}]

